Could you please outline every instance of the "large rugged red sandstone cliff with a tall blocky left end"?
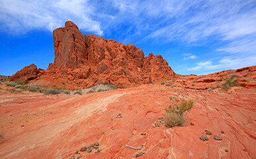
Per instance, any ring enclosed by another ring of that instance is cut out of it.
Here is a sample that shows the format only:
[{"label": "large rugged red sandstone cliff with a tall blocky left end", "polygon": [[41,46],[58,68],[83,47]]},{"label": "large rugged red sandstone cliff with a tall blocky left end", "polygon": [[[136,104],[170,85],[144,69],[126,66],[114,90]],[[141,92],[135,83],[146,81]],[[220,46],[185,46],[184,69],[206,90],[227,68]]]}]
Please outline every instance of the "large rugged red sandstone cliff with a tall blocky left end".
[{"label": "large rugged red sandstone cliff with a tall blocky left end", "polygon": [[[176,74],[162,56],[133,44],[124,45],[95,35],[82,35],[71,21],[53,31],[55,59],[46,71],[32,81],[37,85],[56,85],[65,89],[112,83],[127,87],[175,78]],[[65,83],[65,84],[62,84]]]}]

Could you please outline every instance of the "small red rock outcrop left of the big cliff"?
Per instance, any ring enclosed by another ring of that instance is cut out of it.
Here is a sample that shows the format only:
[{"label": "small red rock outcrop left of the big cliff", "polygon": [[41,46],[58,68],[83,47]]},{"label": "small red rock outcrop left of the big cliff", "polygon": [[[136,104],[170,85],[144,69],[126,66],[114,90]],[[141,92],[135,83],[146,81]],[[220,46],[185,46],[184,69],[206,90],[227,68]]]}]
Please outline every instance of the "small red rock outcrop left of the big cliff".
[{"label": "small red rock outcrop left of the big cliff", "polygon": [[[42,70],[42,69],[40,69]],[[19,70],[16,74],[10,77],[10,81],[20,81],[27,83],[27,81],[36,79],[36,74],[38,70],[34,64],[26,66],[25,68]]]}]

